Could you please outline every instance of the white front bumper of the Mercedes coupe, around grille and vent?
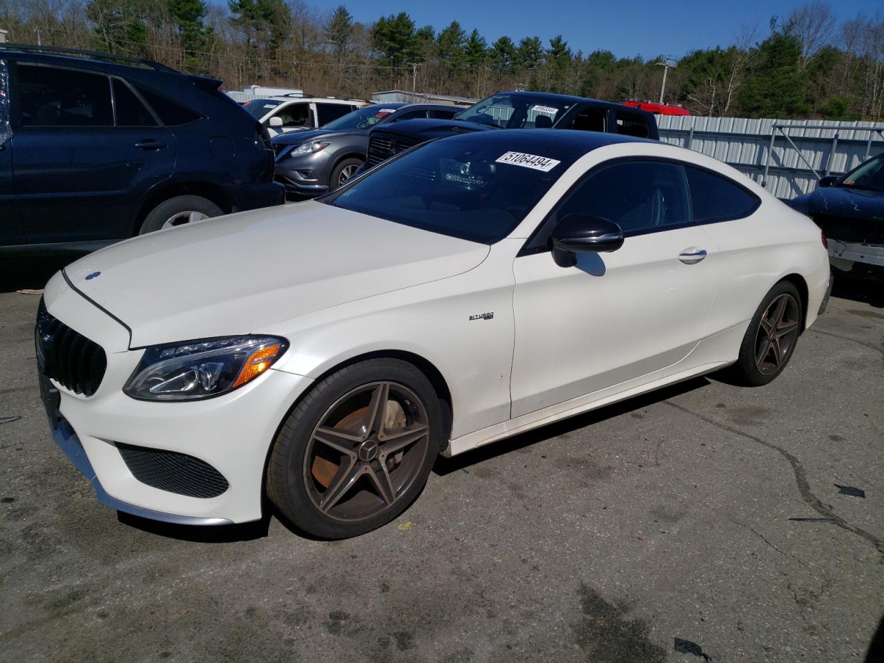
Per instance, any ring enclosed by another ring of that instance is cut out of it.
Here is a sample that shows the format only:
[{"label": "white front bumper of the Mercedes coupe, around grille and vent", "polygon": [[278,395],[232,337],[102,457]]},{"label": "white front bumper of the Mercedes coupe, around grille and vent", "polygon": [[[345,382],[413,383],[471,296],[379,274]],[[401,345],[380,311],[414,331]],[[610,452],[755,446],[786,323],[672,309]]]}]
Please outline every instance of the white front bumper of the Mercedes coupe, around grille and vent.
[{"label": "white front bumper of the Mercedes coupe, around grille and vent", "polygon": [[[142,350],[129,350],[126,329],[79,293],[60,290],[53,278],[46,289],[47,309],[105,349],[107,370],[92,396],[68,391],[39,374],[41,392],[53,438],[87,477],[96,498],[119,511],[164,522],[260,519],[267,454],[279,424],[311,380],[271,369],[209,400],[133,400],[122,387]],[[142,483],[118,445],[191,456],[216,469],[226,490],[202,498]]]}]

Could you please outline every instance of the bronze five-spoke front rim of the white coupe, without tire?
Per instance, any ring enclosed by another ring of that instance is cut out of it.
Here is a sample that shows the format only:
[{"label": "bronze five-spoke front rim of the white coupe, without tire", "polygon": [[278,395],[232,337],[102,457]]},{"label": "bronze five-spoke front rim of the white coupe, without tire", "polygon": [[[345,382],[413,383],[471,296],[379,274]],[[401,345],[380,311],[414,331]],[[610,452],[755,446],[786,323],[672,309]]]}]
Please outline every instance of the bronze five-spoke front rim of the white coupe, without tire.
[{"label": "bronze five-spoke front rim of the white coupe, without tire", "polygon": [[415,392],[396,382],[356,387],[310,436],[302,472],[309,498],[335,521],[373,518],[408,491],[429,446],[427,412]]}]

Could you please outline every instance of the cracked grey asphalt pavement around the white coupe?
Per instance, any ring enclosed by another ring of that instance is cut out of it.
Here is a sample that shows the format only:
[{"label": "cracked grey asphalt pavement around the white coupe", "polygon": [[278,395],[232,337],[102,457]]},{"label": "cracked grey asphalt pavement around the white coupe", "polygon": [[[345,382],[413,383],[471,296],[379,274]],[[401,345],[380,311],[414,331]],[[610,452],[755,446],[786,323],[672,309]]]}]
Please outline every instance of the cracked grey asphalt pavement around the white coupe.
[{"label": "cracked grey asphalt pavement around the white coupe", "polygon": [[0,660],[880,661],[882,287],[836,290],[772,385],[440,460],[339,542],[98,504],[50,438],[38,296],[0,294]]}]

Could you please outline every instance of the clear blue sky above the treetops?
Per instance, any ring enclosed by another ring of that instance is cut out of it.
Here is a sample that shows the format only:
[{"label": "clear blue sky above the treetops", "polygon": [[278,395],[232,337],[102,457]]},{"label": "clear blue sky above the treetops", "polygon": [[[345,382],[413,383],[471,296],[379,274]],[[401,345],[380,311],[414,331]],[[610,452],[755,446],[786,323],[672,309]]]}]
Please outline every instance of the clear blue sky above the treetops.
[{"label": "clear blue sky above the treetops", "polygon": [[[215,0],[218,2],[218,0]],[[572,50],[611,50],[620,57],[660,54],[681,57],[694,49],[728,45],[743,24],[757,25],[759,36],[768,34],[773,14],[785,18],[803,0],[329,0],[310,2],[320,11],[345,4],[354,19],[370,23],[378,17],[408,11],[418,26],[439,30],[452,20],[468,32],[478,28],[489,43],[502,34],[518,41],[539,36],[546,42],[562,34]],[[837,0],[831,3],[839,19],[856,18],[858,12],[873,14],[884,9],[880,0]]]}]

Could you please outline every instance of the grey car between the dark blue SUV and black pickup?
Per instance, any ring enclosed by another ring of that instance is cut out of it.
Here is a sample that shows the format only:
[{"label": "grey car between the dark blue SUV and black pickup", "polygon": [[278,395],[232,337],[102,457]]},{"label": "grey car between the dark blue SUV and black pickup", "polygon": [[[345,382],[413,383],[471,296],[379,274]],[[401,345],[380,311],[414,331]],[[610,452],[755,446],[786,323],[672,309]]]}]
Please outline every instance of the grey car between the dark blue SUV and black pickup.
[{"label": "grey car between the dark blue SUV and black pickup", "polygon": [[289,193],[324,194],[353,177],[365,161],[373,126],[404,119],[451,119],[461,110],[436,103],[378,103],[315,131],[283,133],[273,139],[276,179]]}]

